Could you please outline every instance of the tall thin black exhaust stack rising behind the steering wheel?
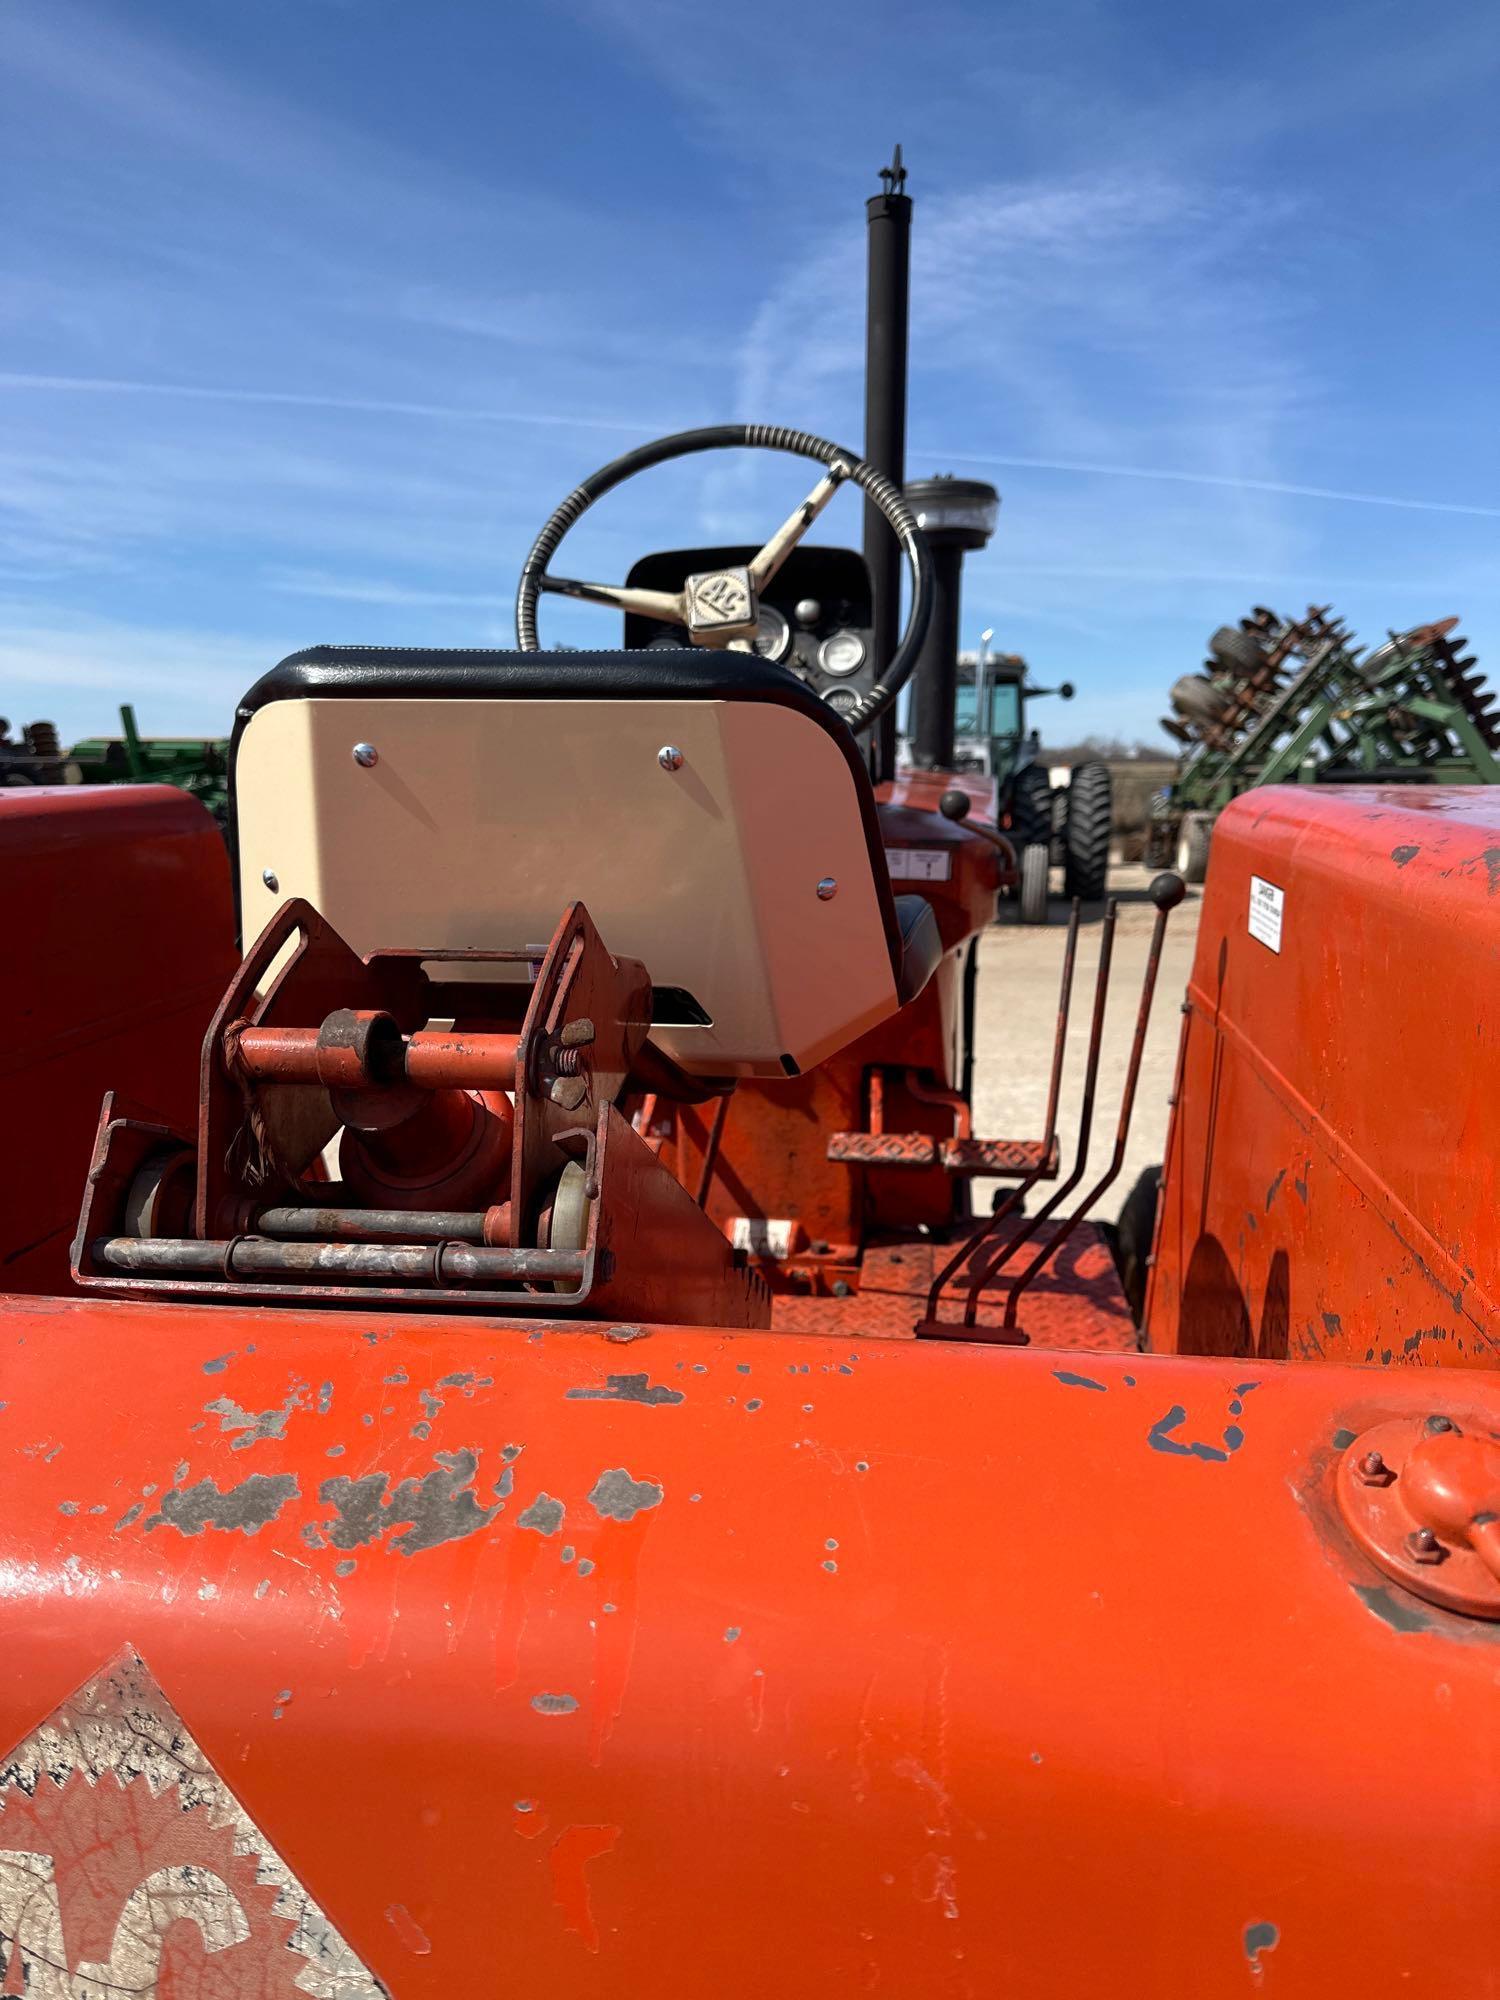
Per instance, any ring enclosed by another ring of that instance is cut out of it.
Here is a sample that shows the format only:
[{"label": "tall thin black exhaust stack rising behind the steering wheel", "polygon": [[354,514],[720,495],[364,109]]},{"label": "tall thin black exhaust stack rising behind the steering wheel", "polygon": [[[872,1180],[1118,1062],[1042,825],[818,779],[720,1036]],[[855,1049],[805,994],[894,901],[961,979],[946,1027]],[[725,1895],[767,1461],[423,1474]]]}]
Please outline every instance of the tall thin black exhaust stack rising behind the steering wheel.
[{"label": "tall thin black exhaust stack rising behind the steering wheel", "polygon": [[[864,456],[896,486],[906,482],[906,324],[912,296],[912,198],[900,146],[880,168],[882,192],[864,204],[870,274],[864,308]],[[864,502],[864,560],[874,584],[874,656],[900,636],[902,552],[880,508]],[[876,778],[896,774],[896,710],[878,728]]]}]

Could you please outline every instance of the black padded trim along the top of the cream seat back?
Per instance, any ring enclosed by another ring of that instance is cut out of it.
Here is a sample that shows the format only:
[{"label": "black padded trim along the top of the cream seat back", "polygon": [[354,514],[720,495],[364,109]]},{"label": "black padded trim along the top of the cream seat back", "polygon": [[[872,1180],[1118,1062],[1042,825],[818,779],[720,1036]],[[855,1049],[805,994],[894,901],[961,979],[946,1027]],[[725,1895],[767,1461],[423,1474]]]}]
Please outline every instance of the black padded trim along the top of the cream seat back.
[{"label": "black padded trim along the top of the cream seat back", "polygon": [[[250,688],[234,712],[230,740],[230,852],[236,862],[234,900],[238,914],[238,824],[234,810],[234,770],[240,736],[256,710],[270,702],[306,700],[574,700],[574,702],[776,702],[796,708],[838,746],[860,802],[864,842],[870,850],[880,918],[886,928],[890,968],[902,970],[902,934],[890,892],[890,870],[880,840],[874,788],[860,746],[848,724],[784,666],[754,652],[722,652],[706,646],[648,646],[636,652],[500,652],[484,646],[308,646],[288,654],[280,666]],[[650,968],[648,968],[650,970]]]}]

